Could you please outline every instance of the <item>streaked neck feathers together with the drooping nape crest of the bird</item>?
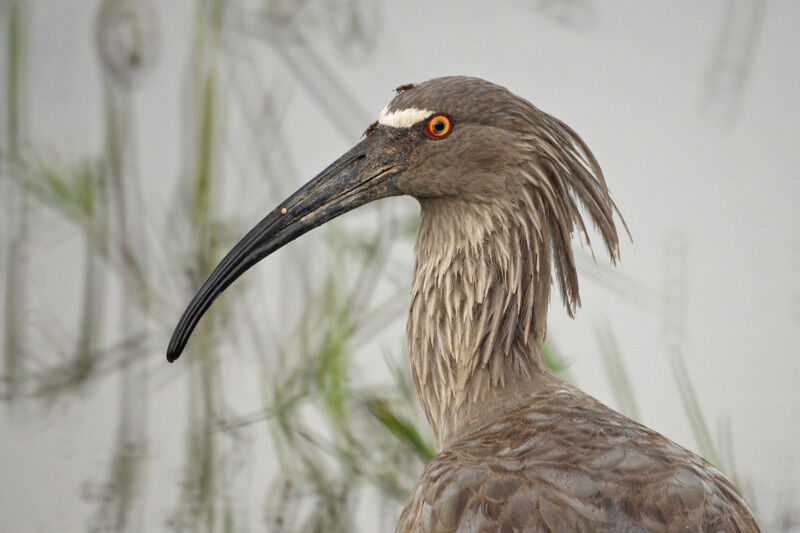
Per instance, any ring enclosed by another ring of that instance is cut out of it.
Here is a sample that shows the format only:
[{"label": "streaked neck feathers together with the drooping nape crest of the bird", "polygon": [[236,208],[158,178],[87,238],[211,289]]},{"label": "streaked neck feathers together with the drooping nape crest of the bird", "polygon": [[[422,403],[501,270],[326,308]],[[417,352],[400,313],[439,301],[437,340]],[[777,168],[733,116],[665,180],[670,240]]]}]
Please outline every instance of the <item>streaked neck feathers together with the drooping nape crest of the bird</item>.
[{"label": "streaked neck feathers together with the drooping nape crest of the bird", "polygon": [[570,242],[578,233],[591,246],[581,208],[612,262],[619,256],[616,206],[597,160],[569,126],[519,105],[506,117],[516,133],[505,155],[474,147],[494,163],[480,167],[487,175],[472,168],[454,185],[452,174],[433,174],[428,181],[454,195],[420,199],[407,335],[440,446],[526,393],[567,386],[547,371],[541,346],[551,283],[570,315],[580,305]]}]

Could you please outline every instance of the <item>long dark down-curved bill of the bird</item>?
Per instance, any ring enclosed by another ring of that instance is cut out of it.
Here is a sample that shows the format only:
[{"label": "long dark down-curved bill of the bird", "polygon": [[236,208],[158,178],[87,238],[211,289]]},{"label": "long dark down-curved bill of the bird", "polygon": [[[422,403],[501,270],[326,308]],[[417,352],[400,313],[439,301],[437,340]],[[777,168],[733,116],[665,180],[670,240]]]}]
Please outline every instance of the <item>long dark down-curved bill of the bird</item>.
[{"label": "long dark down-curved bill of the bird", "polygon": [[[172,333],[175,361],[214,299],[247,269],[307,231],[356,207],[401,194],[404,145],[399,132],[378,128],[268,214],[228,252],[194,295]],[[401,141],[401,142],[397,142]]]}]

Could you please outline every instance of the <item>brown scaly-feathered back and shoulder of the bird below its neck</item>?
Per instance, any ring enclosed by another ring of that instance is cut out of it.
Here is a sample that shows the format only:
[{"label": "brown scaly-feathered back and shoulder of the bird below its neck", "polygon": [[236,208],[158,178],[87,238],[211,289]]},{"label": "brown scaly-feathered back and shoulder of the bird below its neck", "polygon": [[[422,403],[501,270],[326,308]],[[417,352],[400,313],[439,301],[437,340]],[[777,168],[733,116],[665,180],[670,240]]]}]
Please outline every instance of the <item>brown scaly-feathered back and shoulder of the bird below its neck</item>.
[{"label": "brown scaly-feathered back and shoulder of the bird below its neck", "polygon": [[713,466],[577,390],[439,453],[398,532],[758,531]]}]

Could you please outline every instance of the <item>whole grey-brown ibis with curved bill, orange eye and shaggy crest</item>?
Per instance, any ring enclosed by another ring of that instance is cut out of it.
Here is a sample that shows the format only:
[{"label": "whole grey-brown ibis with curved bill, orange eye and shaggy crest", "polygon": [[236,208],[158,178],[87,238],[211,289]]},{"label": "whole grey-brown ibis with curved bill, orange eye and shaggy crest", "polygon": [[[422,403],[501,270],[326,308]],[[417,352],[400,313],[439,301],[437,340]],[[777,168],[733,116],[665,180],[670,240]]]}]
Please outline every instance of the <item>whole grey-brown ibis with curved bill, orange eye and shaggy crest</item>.
[{"label": "whole grey-brown ibis with curved bill, orange eye and shaggy crest", "polygon": [[220,262],[168,359],[257,261],[359,205],[410,195],[421,205],[411,375],[441,452],[398,532],[758,531],[713,466],[544,365],[551,286],[570,314],[580,302],[574,234],[590,244],[594,226],[618,256],[616,206],[580,137],[510,91],[465,77],[403,86],[365,135]]}]

